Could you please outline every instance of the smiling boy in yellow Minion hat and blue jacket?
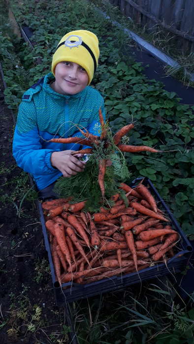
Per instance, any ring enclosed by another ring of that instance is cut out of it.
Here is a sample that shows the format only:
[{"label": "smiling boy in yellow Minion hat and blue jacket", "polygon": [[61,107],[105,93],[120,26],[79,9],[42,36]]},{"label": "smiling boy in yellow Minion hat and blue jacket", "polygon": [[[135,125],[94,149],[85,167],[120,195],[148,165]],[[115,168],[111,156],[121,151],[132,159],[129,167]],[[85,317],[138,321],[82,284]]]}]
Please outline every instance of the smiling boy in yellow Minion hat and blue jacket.
[{"label": "smiling boy in yellow Minion hat and blue jacket", "polygon": [[13,156],[32,174],[39,196],[53,196],[56,179],[84,170],[85,163],[71,153],[79,144],[49,142],[52,138],[82,136],[87,129],[99,135],[98,110],[104,113],[100,93],[89,86],[99,57],[97,36],[88,30],[65,34],[52,59],[52,73],[23,95],[13,139]]}]

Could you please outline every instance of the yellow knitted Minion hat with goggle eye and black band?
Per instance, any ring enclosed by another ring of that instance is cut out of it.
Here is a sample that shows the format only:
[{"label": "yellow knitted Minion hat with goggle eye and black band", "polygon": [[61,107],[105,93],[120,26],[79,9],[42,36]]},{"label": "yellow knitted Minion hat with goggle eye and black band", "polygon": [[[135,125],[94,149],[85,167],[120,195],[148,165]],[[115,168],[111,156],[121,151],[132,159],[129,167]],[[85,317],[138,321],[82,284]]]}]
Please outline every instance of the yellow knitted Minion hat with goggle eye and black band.
[{"label": "yellow knitted Minion hat with goggle eye and black band", "polygon": [[55,67],[59,62],[75,62],[86,70],[89,85],[97,69],[98,57],[98,39],[93,32],[88,30],[70,31],[62,37],[53,55],[52,73],[55,75]]}]

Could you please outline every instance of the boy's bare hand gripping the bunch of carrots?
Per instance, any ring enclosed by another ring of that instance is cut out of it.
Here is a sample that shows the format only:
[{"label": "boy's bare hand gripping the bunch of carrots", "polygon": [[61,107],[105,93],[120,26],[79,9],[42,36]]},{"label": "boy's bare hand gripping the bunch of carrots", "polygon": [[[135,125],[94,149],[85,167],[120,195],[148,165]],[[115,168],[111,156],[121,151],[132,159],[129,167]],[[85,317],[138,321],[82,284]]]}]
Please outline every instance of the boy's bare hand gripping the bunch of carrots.
[{"label": "boy's bare hand gripping the bunch of carrots", "polygon": [[78,172],[83,172],[85,162],[80,161],[76,156],[71,155],[74,150],[63,150],[51,154],[51,165],[62,172],[64,177],[71,177]]}]

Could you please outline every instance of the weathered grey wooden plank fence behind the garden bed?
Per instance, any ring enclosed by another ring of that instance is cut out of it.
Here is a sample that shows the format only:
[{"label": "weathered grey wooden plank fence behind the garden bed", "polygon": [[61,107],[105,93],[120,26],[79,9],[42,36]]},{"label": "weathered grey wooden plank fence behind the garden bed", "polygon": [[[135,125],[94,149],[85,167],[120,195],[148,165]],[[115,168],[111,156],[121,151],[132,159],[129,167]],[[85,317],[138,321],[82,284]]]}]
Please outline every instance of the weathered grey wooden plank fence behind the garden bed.
[{"label": "weathered grey wooden plank fence behind the garden bed", "polygon": [[[109,0],[148,32],[163,29],[176,46],[194,53],[194,0]],[[168,43],[167,43],[168,44]]]}]

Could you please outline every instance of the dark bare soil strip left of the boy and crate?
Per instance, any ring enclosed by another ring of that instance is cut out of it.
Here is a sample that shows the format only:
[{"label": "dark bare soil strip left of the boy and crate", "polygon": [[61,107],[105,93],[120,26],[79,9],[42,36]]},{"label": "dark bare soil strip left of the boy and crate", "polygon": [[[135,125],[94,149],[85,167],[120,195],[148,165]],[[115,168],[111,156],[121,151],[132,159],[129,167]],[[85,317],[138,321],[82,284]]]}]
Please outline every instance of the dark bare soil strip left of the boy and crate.
[{"label": "dark bare soil strip left of the boy and crate", "polygon": [[0,343],[67,343],[35,203],[25,198],[17,214],[21,195],[9,201],[13,180],[24,172],[12,157],[14,118],[4,103],[2,80],[0,118]]}]

